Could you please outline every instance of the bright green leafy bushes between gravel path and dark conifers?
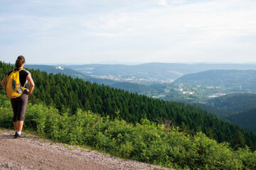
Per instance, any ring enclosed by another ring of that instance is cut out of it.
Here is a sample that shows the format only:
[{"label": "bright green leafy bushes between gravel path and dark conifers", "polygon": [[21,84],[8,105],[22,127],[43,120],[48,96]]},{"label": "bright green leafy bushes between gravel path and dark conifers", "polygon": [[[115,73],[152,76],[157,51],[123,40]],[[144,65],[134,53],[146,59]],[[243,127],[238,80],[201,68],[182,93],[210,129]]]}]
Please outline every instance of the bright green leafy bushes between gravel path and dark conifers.
[{"label": "bright green leafy bushes between gravel path and dark conifers", "polygon": [[[11,103],[2,94],[0,106],[0,128],[12,128]],[[248,147],[234,150],[202,132],[189,135],[146,119],[133,125],[80,109],[73,115],[60,115],[53,107],[28,103],[24,128],[53,141],[174,169],[256,169],[256,152]],[[37,154],[41,153],[33,153]]]}]

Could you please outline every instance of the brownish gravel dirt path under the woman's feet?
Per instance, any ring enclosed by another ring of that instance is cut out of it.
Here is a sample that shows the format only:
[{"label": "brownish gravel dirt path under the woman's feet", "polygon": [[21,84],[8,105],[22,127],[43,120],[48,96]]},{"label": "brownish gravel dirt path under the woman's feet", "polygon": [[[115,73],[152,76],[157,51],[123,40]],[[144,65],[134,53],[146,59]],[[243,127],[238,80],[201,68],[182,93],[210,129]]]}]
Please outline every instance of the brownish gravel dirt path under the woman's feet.
[{"label": "brownish gravel dirt path under the woman's feet", "polygon": [[33,135],[17,139],[13,135],[14,131],[0,130],[0,169],[161,169],[80,147],[38,140]]}]

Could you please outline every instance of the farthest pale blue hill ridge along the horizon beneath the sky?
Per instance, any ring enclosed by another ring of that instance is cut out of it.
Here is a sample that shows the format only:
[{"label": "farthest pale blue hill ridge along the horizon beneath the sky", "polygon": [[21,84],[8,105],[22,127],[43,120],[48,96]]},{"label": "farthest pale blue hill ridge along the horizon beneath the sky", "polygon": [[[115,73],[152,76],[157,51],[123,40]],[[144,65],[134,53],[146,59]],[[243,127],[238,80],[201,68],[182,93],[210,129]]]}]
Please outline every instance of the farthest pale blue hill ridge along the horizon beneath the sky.
[{"label": "farthest pale blue hill ridge along the horizon beneath the sky", "polygon": [[178,79],[184,74],[203,72],[209,69],[256,69],[256,64],[179,64],[147,63],[137,65],[124,64],[82,64],[62,65],[90,75],[115,77],[138,77],[144,79]]}]

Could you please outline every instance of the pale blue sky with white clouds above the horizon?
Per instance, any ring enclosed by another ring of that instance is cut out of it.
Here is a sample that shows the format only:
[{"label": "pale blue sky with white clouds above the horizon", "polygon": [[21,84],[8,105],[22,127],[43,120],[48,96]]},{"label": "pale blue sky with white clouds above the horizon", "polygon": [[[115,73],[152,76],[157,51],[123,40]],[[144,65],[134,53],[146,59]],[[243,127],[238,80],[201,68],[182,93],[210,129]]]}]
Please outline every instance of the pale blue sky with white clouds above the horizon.
[{"label": "pale blue sky with white clouds above the horizon", "polygon": [[0,60],[256,63],[255,0],[0,0]]}]

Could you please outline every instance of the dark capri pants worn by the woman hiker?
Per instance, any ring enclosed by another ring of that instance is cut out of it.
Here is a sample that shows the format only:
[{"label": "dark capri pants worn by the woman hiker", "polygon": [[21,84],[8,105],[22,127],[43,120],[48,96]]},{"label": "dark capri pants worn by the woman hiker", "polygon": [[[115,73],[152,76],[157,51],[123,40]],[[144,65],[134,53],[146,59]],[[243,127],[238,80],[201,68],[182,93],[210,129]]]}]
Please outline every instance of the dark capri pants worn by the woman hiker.
[{"label": "dark capri pants worn by the woman hiker", "polygon": [[14,111],[14,122],[25,120],[26,107],[28,106],[28,92],[25,90],[18,98],[12,98],[11,106]]}]

